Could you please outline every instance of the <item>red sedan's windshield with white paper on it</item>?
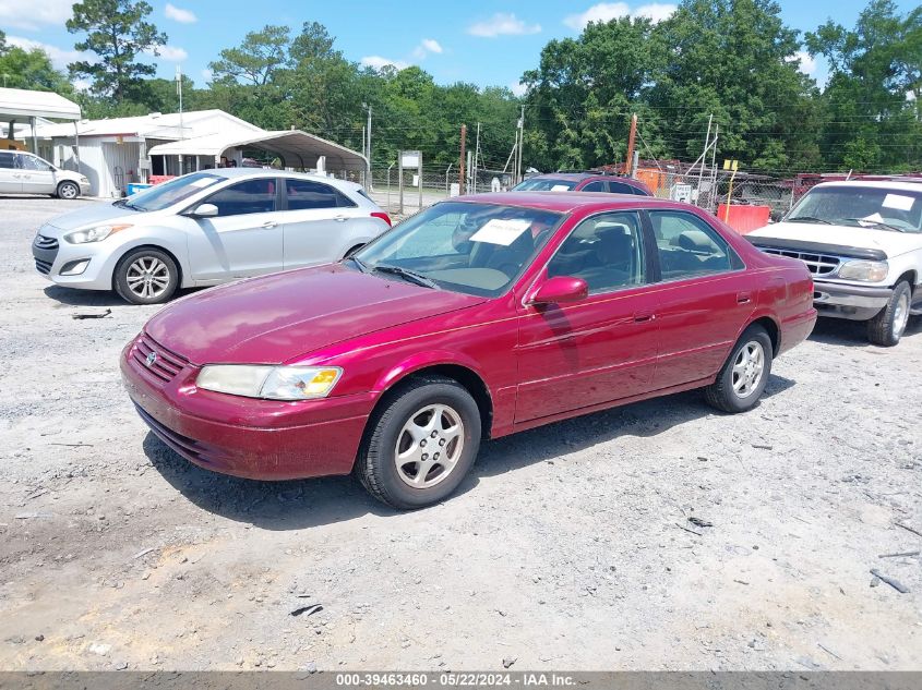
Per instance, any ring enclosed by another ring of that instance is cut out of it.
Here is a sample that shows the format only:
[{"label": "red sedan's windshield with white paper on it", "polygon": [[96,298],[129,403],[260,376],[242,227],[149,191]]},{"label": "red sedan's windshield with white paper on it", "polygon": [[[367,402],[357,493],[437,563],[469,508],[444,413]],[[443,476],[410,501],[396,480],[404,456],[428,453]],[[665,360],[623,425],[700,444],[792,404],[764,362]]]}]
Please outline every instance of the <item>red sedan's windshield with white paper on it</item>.
[{"label": "red sedan's windshield with white paper on it", "polygon": [[498,296],[531,263],[561,218],[536,208],[442,202],[367,245],[352,263],[388,278]]}]

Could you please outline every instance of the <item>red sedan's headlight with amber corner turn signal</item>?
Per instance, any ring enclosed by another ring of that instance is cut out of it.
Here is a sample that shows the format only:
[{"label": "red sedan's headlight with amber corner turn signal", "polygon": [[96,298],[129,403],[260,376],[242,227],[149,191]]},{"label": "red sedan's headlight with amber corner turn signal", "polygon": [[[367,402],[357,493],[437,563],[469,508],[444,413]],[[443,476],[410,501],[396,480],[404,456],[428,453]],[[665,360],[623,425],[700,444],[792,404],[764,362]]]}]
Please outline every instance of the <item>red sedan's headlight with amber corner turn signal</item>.
[{"label": "red sedan's headlight with amber corner turn signal", "polygon": [[330,395],[342,375],[338,366],[208,364],[202,367],[195,385],[247,398],[310,400]]}]

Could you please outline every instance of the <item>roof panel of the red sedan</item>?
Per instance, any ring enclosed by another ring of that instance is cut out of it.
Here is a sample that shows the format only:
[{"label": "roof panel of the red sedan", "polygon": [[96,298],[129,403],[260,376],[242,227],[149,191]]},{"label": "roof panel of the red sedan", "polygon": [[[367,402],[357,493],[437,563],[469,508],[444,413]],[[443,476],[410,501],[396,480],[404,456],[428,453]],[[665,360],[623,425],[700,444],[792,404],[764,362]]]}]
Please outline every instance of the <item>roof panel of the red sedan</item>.
[{"label": "roof panel of the red sedan", "polygon": [[468,194],[456,196],[447,201],[474,204],[498,204],[502,206],[522,206],[556,213],[573,210],[597,210],[606,208],[693,208],[682,202],[672,202],[655,196],[638,196],[636,194],[609,194],[606,192],[493,192],[488,194]]}]

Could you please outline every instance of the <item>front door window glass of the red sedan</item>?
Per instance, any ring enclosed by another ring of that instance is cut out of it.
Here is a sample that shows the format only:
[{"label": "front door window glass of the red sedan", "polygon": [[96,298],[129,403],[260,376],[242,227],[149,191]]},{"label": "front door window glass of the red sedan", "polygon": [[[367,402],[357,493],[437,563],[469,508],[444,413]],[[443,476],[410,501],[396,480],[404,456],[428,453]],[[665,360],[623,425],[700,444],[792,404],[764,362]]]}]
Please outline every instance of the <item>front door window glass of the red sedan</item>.
[{"label": "front door window glass of the red sedan", "polygon": [[548,264],[548,277],[554,276],[583,278],[589,294],[646,282],[637,214],[602,214],[580,222]]}]

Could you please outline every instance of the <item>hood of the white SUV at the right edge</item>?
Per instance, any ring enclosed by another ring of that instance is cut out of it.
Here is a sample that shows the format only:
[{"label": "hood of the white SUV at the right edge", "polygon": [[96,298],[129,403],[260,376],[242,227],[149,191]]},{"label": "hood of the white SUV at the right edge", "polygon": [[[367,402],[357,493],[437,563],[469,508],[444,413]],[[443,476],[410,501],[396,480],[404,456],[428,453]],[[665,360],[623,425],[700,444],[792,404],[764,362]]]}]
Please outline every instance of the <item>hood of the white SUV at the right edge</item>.
[{"label": "hood of the white SUV at the right edge", "polygon": [[[864,250],[882,250],[887,256],[922,247],[922,234],[895,232],[855,226],[827,226],[814,222],[776,222],[749,233],[751,241],[759,238],[797,240],[814,244],[853,246]],[[758,242],[756,242],[757,244]]]}]

